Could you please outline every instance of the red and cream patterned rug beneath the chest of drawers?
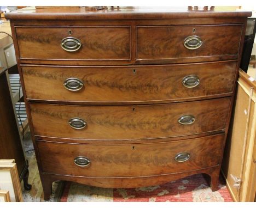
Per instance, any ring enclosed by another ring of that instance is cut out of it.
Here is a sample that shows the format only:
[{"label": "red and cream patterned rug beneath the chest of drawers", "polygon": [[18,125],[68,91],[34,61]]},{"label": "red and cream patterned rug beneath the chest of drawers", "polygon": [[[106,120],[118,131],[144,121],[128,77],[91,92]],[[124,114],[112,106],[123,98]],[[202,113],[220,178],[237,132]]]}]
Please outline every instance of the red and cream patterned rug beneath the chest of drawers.
[{"label": "red and cream patterned rug beneath the chest of drawers", "polygon": [[232,201],[228,189],[219,183],[212,192],[202,174],[158,186],[141,188],[97,188],[66,182],[60,201]]}]

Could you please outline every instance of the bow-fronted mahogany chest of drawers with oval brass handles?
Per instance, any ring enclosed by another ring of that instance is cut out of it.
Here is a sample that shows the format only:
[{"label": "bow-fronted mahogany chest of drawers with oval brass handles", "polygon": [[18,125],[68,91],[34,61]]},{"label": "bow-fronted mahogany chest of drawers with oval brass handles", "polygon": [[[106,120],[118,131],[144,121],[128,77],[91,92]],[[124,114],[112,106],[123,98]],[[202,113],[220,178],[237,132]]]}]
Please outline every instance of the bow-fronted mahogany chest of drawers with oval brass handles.
[{"label": "bow-fronted mahogany chest of drawers with oval brass handles", "polygon": [[249,12],[10,13],[45,199],[69,180],[218,189]]}]

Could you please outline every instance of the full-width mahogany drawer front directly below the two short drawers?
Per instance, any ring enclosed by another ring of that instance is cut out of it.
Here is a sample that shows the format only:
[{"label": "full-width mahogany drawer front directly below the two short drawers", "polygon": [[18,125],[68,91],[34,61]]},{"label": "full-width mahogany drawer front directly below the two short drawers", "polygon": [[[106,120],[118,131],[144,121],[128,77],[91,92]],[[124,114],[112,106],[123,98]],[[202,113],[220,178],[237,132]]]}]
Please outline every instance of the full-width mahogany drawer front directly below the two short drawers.
[{"label": "full-width mahogany drawer front directly below the two short drawers", "polygon": [[232,93],[236,65],[231,61],[134,67],[22,66],[22,73],[27,99],[153,102]]}]

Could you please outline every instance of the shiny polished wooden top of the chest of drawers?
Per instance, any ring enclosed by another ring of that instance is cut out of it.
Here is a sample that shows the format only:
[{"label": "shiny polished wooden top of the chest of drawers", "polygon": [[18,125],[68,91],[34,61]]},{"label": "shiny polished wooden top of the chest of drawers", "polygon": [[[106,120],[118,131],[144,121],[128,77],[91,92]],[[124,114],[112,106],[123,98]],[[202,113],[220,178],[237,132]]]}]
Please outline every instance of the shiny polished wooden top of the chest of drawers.
[{"label": "shiny polished wooden top of the chest of drawers", "polygon": [[28,7],[5,15],[13,20],[120,20],[120,19],[178,19],[210,17],[248,17],[251,11],[236,7],[106,7],[102,10],[80,8]]}]

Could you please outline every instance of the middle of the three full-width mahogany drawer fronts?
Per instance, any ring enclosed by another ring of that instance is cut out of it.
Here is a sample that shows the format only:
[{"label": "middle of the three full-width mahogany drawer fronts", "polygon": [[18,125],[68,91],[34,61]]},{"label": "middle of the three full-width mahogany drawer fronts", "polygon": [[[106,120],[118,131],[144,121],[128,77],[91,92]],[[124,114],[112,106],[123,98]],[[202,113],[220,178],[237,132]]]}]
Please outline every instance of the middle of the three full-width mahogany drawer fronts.
[{"label": "middle of the three full-width mahogany drawer fronts", "polygon": [[230,97],[141,106],[30,104],[36,135],[80,139],[162,138],[223,130],[229,106]]}]

